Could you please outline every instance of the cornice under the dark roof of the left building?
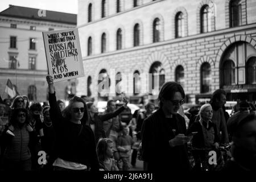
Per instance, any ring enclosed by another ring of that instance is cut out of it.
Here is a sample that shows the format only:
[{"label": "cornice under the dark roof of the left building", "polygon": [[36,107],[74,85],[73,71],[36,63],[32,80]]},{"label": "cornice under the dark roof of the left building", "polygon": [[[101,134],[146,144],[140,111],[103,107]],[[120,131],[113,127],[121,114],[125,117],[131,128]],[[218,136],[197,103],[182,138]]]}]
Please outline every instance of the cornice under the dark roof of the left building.
[{"label": "cornice under the dark roof of the left building", "polygon": [[[65,28],[76,27],[76,24],[67,24],[67,23],[51,22],[51,21],[44,21],[44,20],[36,21],[36,20],[31,20],[26,18],[12,18],[12,17],[6,17],[6,16],[0,16],[0,22],[22,23],[22,24],[47,26],[47,27],[65,27]],[[16,28],[16,29],[23,29],[23,28]],[[27,29],[24,29],[24,30],[27,30]]]}]

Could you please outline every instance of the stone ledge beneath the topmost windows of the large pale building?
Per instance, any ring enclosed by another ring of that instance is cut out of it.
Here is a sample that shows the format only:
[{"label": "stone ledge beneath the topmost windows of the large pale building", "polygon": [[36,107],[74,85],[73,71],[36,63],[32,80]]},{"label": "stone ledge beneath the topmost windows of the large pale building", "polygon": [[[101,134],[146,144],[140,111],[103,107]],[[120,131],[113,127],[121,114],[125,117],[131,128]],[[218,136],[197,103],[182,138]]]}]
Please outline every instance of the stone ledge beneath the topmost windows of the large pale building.
[{"label": "stone ledge beneath the topmost windows of the large pale building", "polygon": [[119,16],[121,14],[126,14],[126,13],[129,13],[130,11],[138,10],[138,9],[143,8],[143,7],[150,6],[152,4],[159,3],[159,2],[162,2],[162,1],[166,1],[166,0],[157,0],[157,1],[151,1],[151,2],[148,2],[148,3],[144,3],[143,5],[139,5],[137,7],[133,7],[131,9],[129,9],[129,10],[124,10],[124,11],[121,11],[119,13],[115,13],[115,14],[106,16],[104,18],[93,20],[92,22],[89,22],[89,23],[80,24],[79,26],[77,26],[77,28],[86,27],[86,26],[89,26],[90,24],[98,23],[98,22],[104,21],[106,19],[110,19],[110,18],[113,18],[115,16]]}]

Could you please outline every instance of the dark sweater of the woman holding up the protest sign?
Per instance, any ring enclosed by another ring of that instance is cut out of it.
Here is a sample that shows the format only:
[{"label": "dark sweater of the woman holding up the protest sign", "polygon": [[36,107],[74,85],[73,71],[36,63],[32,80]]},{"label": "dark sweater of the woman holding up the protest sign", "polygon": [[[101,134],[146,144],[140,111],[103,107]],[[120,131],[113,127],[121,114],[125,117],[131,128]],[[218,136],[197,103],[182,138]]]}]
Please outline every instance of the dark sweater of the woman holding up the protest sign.
[{"label": "dark sweater of the woman holding up the protest sign", "polygon": [[92,171],[98,171],[94,134],[86,125],[86,118],[81,119],[81,125],[64,118],[57,105],[55,93],[49,93],[49,105],[50,117],[56,133],[56,158],[84,164]]}]

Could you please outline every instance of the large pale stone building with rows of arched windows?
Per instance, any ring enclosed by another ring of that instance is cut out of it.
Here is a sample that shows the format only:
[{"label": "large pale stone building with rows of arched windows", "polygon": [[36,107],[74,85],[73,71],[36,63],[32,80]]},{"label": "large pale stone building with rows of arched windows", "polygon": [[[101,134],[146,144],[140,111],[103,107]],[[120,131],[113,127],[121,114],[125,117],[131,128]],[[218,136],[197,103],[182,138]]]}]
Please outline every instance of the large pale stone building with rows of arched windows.
[{"label": "large pale stone building with rows of arched windows", "polygon": [[[77,27],[85,69],[78,95],[119,98],[98,94],[100,73],[110,78],[110,87],[118,84],[117,73],[158,73],[160,85],[180,82],[188,102],[209,100],[218,88],[230,101],[256,100],[253,0],[79,0]],[[151,81],[129,82],[148,88]],[[124,92],[132,100],[144,94]]]}]

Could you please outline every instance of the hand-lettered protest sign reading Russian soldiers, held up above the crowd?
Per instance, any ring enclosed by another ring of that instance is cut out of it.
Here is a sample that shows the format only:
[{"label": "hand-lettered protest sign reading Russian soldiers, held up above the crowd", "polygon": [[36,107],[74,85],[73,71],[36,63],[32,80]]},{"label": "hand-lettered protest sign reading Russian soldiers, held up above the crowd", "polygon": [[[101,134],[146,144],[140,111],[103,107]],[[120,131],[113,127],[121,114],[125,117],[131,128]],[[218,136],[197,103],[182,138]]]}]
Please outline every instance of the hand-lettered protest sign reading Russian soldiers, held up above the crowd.
[{"label": "hand-lettered protest sign reading Russian soldiers, held up above the crowd", "polygon": [[77,28],[43,32],[48,74],[54,82],[84,76]]}]

